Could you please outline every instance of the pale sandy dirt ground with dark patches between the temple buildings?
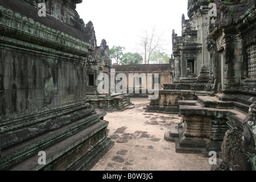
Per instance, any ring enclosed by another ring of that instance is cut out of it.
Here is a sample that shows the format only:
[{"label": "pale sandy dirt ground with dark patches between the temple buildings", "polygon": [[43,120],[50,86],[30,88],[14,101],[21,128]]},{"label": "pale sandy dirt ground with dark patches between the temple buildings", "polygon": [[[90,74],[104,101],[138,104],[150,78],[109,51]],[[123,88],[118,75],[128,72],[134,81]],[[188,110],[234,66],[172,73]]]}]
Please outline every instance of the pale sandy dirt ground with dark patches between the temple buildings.
[{"label": "pale sandy dirt ground with dark patches between the temple buildings", "polygon": [[164,133],[175,128],[175,114],[145,113],[147,98],[131,98],[133,109],[108,113],[109,137],[115,142],[91,171],[209,171],[208,158],[179,154]]}]

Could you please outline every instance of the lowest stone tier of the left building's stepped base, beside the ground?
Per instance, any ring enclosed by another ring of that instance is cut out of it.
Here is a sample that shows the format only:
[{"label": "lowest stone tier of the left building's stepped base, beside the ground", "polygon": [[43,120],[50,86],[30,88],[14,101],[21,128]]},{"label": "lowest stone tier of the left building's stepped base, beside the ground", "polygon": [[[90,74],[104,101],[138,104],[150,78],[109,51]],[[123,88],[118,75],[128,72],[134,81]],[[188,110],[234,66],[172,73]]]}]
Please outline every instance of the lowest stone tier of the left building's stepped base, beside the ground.
[{"label": "lowest stone tier of the left building's stepped base, beside the ground", "polygon": [[[61,139],[43,151],[46,152],[46,165],[39,165],[37,154],[31,155],[30,158],[16,164],[9,170],[78,170],[90,168],[96,163],[112,146],[113,142],[106,138],[104,128],[108,122],[100,121],[96,125],[92,125],[79,133],[73,134],[71,137]],[[99,133],[99,134],[97,134]],[[98,153],[103,153],[100,156]],[[81,160],[85,158],[84,160]],[[83,162],[79,162],[79,160]],[[94,162],[92,162],[92,161]],[[78,162],[78,163],[77,163]],[[90,165],[88,165],[91,163]],[[90,167],[89,167],[90,166]]]}]

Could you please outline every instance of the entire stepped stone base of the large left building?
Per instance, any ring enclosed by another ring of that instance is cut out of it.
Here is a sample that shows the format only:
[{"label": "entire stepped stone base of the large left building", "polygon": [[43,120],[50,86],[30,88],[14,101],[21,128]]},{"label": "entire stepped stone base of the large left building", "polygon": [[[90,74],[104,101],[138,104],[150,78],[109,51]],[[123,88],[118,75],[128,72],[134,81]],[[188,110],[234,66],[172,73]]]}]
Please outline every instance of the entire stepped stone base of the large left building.
[{"label": "entire stepped stone base of the large left building", "polygon": [[[103,111],[82,102],[0,122],[0,170],[88,170],[113,146]],[[46,152],[40,165],[39,151]]]}]

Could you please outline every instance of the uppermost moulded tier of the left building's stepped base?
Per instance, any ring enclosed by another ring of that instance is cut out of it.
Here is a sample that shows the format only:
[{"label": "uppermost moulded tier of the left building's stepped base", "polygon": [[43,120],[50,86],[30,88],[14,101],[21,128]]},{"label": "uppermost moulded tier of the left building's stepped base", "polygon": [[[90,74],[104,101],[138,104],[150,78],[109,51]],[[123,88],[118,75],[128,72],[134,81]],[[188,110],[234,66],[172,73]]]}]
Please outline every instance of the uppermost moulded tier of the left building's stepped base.
[{"label": "uppermost moulded tier of the left building's stepped base", "polygon": [[23,118],[10,119],[10,121],[6,119],[1,122],[0,148],[5,150],[5,148],[22,143],[27,139],[59,129],[91,115],[93,110],[90,105],[83,103],[72,105],[70,109],[69,107],[60,107],[46,111],[46,113],[32,114]]}]

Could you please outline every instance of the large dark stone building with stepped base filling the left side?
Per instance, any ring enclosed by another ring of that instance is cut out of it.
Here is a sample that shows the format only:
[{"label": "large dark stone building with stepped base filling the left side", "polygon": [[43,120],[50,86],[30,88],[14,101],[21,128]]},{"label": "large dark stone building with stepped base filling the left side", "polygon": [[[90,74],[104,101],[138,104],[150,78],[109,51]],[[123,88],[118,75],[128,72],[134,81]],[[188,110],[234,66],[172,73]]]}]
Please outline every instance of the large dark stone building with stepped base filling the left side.
[{"label": "large dark stone building with stepped base filling the left side", "polygon": [[86,98],[93,60],[98,70],[111,63],[108,55],[93,57],[106,42],[97,47],[92,22],[75,10],[81,2],[0,2],[1,170],[86,170],[114,144],[106,113]]}]

